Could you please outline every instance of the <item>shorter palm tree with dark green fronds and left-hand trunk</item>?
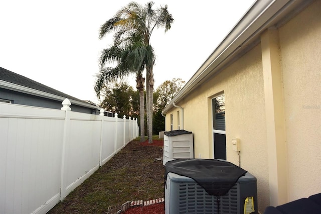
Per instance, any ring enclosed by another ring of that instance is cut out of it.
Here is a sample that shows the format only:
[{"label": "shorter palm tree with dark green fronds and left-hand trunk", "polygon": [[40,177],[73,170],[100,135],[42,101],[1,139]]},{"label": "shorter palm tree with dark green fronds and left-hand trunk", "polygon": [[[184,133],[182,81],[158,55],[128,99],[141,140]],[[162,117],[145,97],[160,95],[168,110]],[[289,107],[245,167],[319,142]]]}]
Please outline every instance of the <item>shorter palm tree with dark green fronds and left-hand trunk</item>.
[{"label": "shorter palm tree with dark green fronds and left-hand trunk", "polygon": [[[148,58],[150,57],[150,58]],[[152,63],[154,58],[153,50],[150,46],[144,46],[142,43],[125,43],[114,44],[108,49],[101,52],[100,67],[101,70],[97,74],[95,82],[95,92],[99,97],[103,86],[109,81],[119,77],[136,73],[136,87],[139,90],[139,105],[140,105],[140,142],[144,141],[144,81],[142,71],[145,66]],[[104,67],[106,63],[116,62],[116,67]]]}]

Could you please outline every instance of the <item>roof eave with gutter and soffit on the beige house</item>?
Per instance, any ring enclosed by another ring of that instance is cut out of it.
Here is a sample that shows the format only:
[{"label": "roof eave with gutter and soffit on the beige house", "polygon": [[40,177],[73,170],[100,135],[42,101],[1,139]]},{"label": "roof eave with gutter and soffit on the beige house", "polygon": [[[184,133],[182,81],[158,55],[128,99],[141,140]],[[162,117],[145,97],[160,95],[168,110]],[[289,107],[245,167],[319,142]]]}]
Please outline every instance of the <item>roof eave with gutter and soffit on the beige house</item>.
[{"label": "roof eave with gutter and soffit on the beige house", "polygon": [[244,14],[240,21],[228,33],[209,58],[184,85],[178,94],[163,110],[162,114],[173,108],[174,102],[179,102],[197,86],[206,81],[206,77],[220,72],[229,63],[240,57],[258,40],[260,33],[276,25],[284,16],[296,14],[312,0],[269,0],[256,1]]}]

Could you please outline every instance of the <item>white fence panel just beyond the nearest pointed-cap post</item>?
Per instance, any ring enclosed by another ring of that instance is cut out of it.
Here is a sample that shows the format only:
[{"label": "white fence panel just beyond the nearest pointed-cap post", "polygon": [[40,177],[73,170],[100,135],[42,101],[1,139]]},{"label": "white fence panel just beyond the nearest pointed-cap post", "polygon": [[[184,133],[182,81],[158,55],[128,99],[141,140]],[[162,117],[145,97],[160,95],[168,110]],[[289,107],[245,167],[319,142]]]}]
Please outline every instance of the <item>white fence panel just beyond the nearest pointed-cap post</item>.
[{"label": "white fence panel just beyond the nearest pointed-cap post", "polygon": [[66,194],[83,182],[82,176],[98,169],[100,153],[101,116],[70,113],[64,171]]}]

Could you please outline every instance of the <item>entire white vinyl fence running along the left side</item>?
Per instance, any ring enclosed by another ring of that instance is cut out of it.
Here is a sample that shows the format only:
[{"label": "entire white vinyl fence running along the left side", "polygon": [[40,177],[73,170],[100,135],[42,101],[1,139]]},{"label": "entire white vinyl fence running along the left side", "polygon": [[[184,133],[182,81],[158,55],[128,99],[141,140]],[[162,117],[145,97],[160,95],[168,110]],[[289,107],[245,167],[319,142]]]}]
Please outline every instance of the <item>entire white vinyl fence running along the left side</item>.
[{"label": "entire white vinyl fence running along the left side", "polygon": [[[137,119],[0,103],[0,213],[46,213],[138,137]],[[72,106],[71,106],[72,108]]]}]

